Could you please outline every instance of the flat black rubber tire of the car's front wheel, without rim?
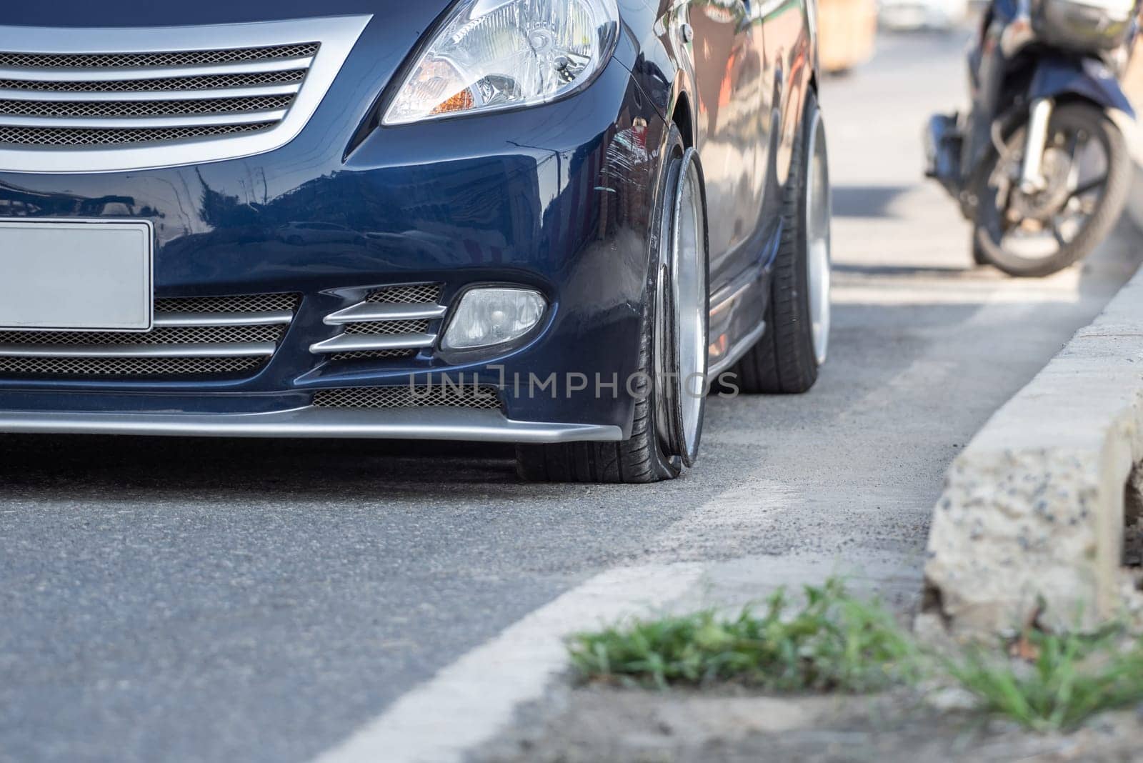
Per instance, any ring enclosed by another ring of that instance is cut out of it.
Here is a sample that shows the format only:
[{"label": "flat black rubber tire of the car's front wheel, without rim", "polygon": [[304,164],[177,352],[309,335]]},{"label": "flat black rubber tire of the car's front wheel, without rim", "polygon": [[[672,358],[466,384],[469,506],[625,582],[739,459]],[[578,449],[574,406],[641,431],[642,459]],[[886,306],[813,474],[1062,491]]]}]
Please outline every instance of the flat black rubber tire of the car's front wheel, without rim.
[{"label": "flat black rubber tire of the car's front wheel, without rim", "polygon": [[[517,474],[531,482],[588,482],[647,484],[673,480],[684,468],[684,459],[669,453],[663,432],[671,427],[670,410],[656,392],[656,295],[660,292],[662,247],[671,240],[669,200],[674,198],[680,167],[686,153],[682,136],[671,126],[668,136],[668,158],[660,182],[658,202],[652,222],[655,246],[649,252],[646,298],[639,336],[639,374],[633,385],[637,401],[631,436],[622,442],[570,442],[551,445],[518,445]],[[700,427],[702,426],[700,421]]]}]

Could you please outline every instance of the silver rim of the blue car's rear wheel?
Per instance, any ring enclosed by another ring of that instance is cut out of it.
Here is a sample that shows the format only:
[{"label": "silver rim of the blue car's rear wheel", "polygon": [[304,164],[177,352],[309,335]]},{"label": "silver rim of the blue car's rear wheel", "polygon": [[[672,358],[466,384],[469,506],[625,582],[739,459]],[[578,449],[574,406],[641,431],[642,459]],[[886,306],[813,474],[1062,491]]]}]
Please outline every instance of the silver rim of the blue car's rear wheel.
[{"label": "silver rim of the blue car's rear wheel", "polygon": [[830,350],[830,168],[822,118],[814,115],[806,177],[806,268],[809,319],[817,364]]}]

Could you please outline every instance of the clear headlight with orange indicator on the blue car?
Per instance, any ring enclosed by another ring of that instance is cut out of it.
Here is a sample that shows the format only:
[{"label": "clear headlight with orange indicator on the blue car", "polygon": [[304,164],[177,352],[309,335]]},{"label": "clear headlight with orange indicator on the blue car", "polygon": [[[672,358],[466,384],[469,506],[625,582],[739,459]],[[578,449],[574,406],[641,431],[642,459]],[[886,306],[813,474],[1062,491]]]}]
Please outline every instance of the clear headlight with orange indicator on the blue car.
[{"label": "clear headlight with orange indicator on the blue car", "polygon": [[602,69],[617,34],[616,0],[462,0],[384,123],[553,101]]}]

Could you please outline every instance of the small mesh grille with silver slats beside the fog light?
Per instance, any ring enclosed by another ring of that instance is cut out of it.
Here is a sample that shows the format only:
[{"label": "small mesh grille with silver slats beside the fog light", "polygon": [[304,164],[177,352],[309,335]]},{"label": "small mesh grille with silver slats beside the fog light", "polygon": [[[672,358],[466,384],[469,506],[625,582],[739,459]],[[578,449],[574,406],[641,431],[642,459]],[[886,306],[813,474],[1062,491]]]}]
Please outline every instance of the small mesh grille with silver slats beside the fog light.
[{"label": "small mesh grille with silver slats beside the fog light", "polygon": [[441,284],[406,283],[370,291],[352,307],[326,316],[342,332],[310,352],[333,360],[415,358],[437,343],[433,330],[445,315]]}]

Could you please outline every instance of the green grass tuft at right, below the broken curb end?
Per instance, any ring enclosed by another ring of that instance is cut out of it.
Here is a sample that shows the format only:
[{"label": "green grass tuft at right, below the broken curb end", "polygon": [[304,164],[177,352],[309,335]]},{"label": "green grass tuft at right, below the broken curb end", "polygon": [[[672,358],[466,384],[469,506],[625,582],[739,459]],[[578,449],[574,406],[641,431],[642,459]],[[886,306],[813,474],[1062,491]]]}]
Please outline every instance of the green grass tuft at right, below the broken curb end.
[{"label": "green grass tuft at right, below the broken curb end", "polygon": [[1069,730],[1090,715],[1143,701],[1143,645],[1118,648],[1117,633],[1098,636],[1031,632],[1014,660],[969,649],[949,673],[985,709],[1037,730]]}]

